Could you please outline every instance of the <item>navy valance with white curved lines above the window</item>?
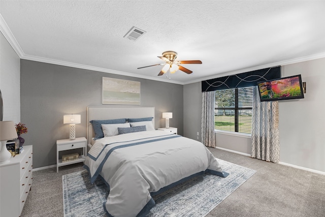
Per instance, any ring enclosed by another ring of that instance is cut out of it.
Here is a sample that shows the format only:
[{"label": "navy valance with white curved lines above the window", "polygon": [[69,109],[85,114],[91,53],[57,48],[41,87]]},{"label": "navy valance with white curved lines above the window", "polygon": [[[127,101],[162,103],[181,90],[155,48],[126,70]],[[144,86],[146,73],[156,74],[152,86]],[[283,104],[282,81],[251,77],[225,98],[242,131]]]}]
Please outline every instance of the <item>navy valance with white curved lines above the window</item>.
[{"label": "navy valance with white curved lines above the window", "polygon": [[202,81],[202,92],[256,86],[259,81],[281,78],[281,66]]}]

